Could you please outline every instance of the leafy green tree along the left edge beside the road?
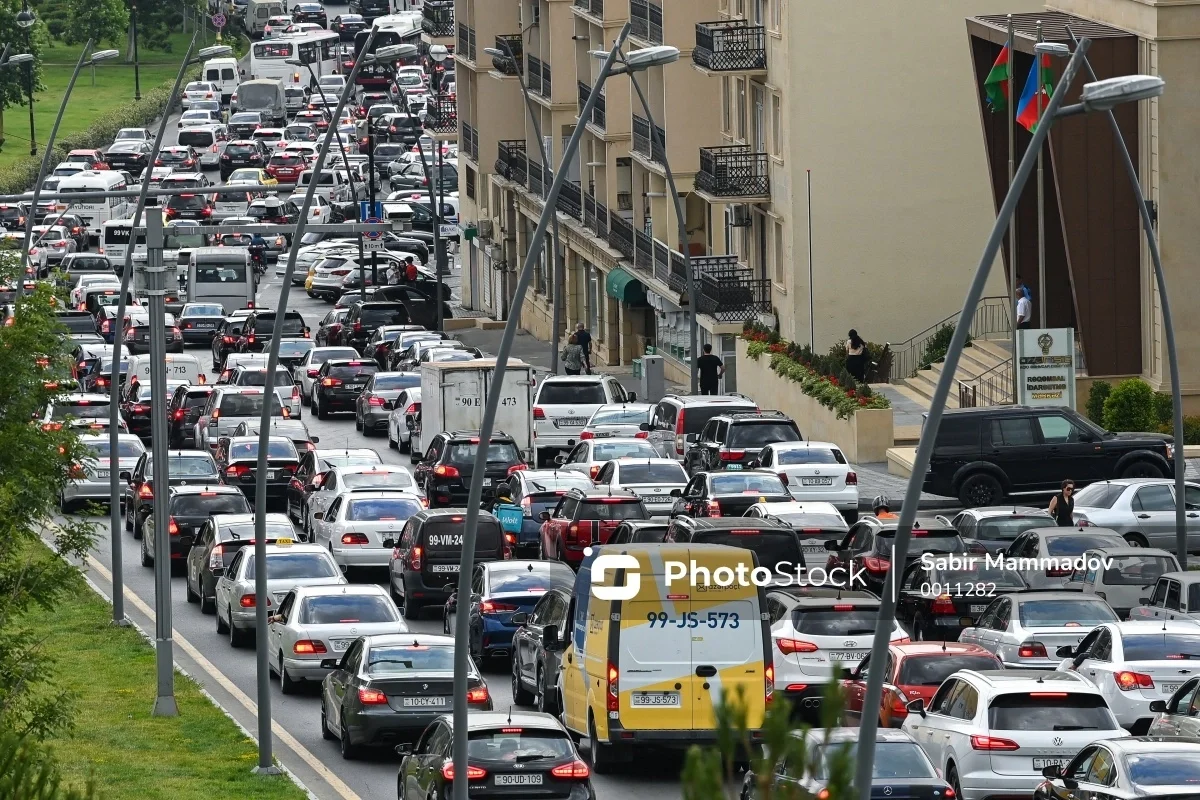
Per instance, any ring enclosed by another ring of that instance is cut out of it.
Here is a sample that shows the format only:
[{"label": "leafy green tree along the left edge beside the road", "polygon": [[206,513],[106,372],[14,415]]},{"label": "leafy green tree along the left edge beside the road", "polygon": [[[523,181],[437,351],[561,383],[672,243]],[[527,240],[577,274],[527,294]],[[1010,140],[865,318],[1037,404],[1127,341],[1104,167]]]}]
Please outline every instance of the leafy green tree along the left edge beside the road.
[{"label": "leafy green tree along the left edge beside the road", "polygon": [[[17,252],[0,251],[0,284],[12,285],[19,273]],[[54,607],[78,571],[68,559],[95,543],[89,523],[53,524],[71,471],[90,458],[71,426],[40,423],[71,378],[70,339],[56,308],[62,301],[38,284],[18,300],[13,324],[0,327],[0,730],[35,739],[70,723],[70,703],[54,685],[41,636],[23,618],[34,607]],[[47,555],[43,535],[64,558]]]}]

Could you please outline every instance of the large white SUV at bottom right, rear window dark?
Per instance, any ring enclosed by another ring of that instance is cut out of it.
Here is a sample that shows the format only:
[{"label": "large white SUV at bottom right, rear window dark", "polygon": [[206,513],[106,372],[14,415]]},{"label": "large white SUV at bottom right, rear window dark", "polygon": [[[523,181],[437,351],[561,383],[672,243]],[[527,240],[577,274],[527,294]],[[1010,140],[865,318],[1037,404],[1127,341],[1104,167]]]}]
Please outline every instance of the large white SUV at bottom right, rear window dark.
[{"label": "large white SUV at bottom right, rear window dark", "polygon": [[901,729],[924,742],[954,796],[966,800],[1026,795],[1046,766],[1126,735],[1100,690],[1081,675],[990,669],[954,673],[928,710],[923,699],[911,700]]}]

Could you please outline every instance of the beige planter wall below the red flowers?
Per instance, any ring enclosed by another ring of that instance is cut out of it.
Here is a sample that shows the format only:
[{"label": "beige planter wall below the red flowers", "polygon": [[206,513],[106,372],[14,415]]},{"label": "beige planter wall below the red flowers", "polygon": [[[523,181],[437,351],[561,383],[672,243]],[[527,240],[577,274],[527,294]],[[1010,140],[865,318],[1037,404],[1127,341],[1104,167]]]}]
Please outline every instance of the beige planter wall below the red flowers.
[{"label": "beige planter wall below the red flowers", "polygon": [[776,409],[796,420],[800,434],[812,441],[832,441],[854,464],[886,462],[895,443],[892,409],[859,409],[845,420],[800,391],[799,384],[770,371],[770,354],[757,361],[746,355],[746,342],[738,338],[738,386],[749,392],[762,409]]}]

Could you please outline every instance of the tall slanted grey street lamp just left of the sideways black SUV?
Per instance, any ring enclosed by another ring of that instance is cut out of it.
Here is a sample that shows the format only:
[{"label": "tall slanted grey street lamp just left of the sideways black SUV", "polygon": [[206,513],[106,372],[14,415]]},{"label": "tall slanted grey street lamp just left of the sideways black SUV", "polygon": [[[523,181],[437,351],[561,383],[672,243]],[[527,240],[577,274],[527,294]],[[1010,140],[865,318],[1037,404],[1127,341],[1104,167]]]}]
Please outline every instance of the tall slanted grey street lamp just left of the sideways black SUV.
[{"label": "tall slanted grey street lamp just left of the sideways black SUV", "polygon": [[[925,427],[922,431],[920,440],[917,445],[917,455],[912,464],[912,475],[908,479],[908,488],[905,492],[904,505],[900,506],[900,521],[896,527],[895,541],[892,552],[892,564],[904,564],[908,554],[908,541],[912,536],[912,525],[917,517],[917,506],[920,503],[920,491],[924,483],[925,473],[929,469],[930,456],[932,455],[934,443],[937,439],[937,428],[942,421],[942,411],[946,409],[946,401],[950,393],[950,384],[954,380],[954,373],[959,366],[959,359],[962,355],[962,349],[966,345],[966,338],[968,332],[968,325],[966,320],[971,319],[974,314],[976,308],[979,305],[979,299],[983,296],[984,285],[988,282],[988,270],[995,261],[996,252],[1000,249],[1001,239],[1003,239],[1004,230],[1008,228],[1009,219],[1012,219],[1013,211],[1016,209],[1018,200],[1021,197],[1021,191],[1025,184],[1030,179],[1030,173],[1033,172],[1033,162],[1037,160],[1037,154],[1040,151],[1046,137],[1050,133],[1051,125],[1060,116],[1070,116],[1073,114],[1082,114],[1087,110],[1108,110],[1111,109],[1117,103],[1122,102],[1136,102],[1139,100],[1145,100],[1146,97],[1154,97],[1163,91],[1163,82],[1147,76],[1126,76],[1123,78],[1116,78],[1114,82],[1098,82],[1105,84],[1104,88],[1092,89],[1092,95],[1088,101],[1088,107],[1081,102],[1078,106],[1063,107],[1063,98],[1070,90],[1072,83],[1075,80],[1075,76],[1081,68],[1088,48],[1091,48],[1091,40],[1080,40],[1070,61],[1067,64],[1067,68],[1063,72],[1062,80],[1057,86],[1054,95],[1050,97],[1050,104],[1046,107],[1046,114],[1043,119],[1044,124],[1039,124],[1034,128],[1032,142],[1028,149],[1025,151],[1025,156],[1021,158],[1021,164],[1014,175],[1014,180],[1008,188],[1008,194],[1004,197],[1004,201],[1000,207],[1000,212],[996,217],[996,224],[991,230],[991,235],[988,239],[986,246],[983,251],[983,258],[979,260],[979,265],[976,267],[974,278],[971,282],[971,287],[967,289],[967,296],[962,306],[962,313],[959,317],[959,324],[954,327],[954,336],[950,339],[949,348],[946,353],[946,363],[942,368],[942,373],[937,380],[937,387],[934,391],[934,397],[930,403],[929,414],[925,417]],[[1086,88],[1085,88],[1086,91]],[[1132,166],[1127,167],[1132,170]],[[1144,207],[1144,224],[1148,229],[1148,212]],[[1153,235],[1150,236],[1151,242],[1153,242]],[[1151,245],[1154,248],[1154,245]],[[1162,281],[1162,278],[1159,278]],[[1159,283],[1159,293],[1165,299],[1165,285]],[[1014,354],[1015,357],[1015,354]],[[1014,363],[1015,368],[1015,363]],[[1174,368],[1172,359],[1172,375],[1176,375],[1176,369]],[[1176,387],[1178,386],[1177,375],[1175,379]],[[1015,398],[1014,398],[1015,399]],[[1182,407],[1176,403],[1176,419],[1181,414]],[[1182,427],[1182,421],[1177,422]],[[1182,450],[1182,441],[1176,440],[1176,458],[1178,458],[1178,452]],[[1182,507],[1182,504],[1178,504]],[[1184,529],[1181,527],[1181,531]],[[1182,545],[1187,542],[1183,541]],[[883,596],[880,602],[878,622],[875,627],[875,639],[871,646],[871,655],[869,658],[872,663],[882,663],[883,657],[887,652],[889,644],[889,634],[895,624],[895,606],[896,606],[896,589],[899,572],[896,570],[889,570],[887,582],[883,588]],[[883,694],[883,670],[871,669],[868,673],[866,681],[866,694],[863,699],[864,709],[877,709],[880,708],[880,699]],[[875,759],[875,739],[878,728],[878,715],[876,714],[864,714],[862,718],[862,724],[858,735],[858,752],[856,758],[857,775],[854,784],[858,787],[859,795],[863,800],[870,800],[871,796],[871,776],[872,776],[872,764]]]}]

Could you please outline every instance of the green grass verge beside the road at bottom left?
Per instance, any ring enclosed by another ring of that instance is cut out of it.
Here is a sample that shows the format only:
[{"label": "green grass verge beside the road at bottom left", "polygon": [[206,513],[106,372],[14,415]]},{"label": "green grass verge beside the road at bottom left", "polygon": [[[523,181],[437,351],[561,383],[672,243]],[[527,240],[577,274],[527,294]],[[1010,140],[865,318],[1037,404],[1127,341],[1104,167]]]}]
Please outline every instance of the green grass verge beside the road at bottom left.
[{"label": "green grass verge beside the road at bottom left", "polygon": [[252,775],[254,742],[182,675],[175,675],[180,715],[151,717],[154,649],[136,630],[113,627],[112,607],[76,583],[53,612],[30,615],[59,682],[74,693],[74,729],[49,742],[66,783],[92,776],[108,800],[306,796],[284,775]]}]

